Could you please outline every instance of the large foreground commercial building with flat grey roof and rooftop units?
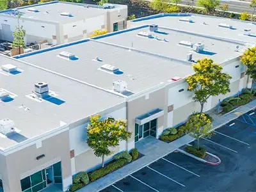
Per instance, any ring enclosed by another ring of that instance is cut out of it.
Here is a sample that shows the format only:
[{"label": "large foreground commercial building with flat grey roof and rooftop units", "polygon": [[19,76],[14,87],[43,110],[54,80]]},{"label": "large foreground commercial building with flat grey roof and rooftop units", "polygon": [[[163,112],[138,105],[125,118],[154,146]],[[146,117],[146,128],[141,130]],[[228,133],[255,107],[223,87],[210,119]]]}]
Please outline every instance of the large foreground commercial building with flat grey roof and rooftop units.
[{"label": "large foreground commercial building with flat grey roof and rooftop units", "polygon": [[[184,15],[180,18],[184,20]],[[72,175],[99,166],[101,159],[86,145],[91,115],[127,120],[132,136],[113,148],[113,154],[131,150],[148,136],[159,138],[167,127],[182,124],[200,109],[185,80],[193,74],[191,65],[198,59],[211,58],[232,76],[231,92],[210,97],[204,111],[250,86],[239,61],[244,49],[253,46],[250,36],[228,39],[191,32],[191,26],[182,31],[147,22],[93,39],[0,58],[4,192],[40,191],[52,183],[62,183],[65,191]],[[180,22],[196,24],[196,20]]]}]

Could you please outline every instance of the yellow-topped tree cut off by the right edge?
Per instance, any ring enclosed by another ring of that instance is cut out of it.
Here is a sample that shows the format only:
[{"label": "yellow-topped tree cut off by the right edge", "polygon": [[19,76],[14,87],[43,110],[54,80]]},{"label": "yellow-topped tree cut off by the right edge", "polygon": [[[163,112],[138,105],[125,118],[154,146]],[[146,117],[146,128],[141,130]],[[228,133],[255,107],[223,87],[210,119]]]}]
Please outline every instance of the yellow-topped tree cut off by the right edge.
[{"label": "yellow-topped tree cut off by the right edge", "polygon": [[248,48],[244,51],[243,56],[241,56],[241,62],[246,65],[246,75],[252,78],[252,91],[256,82],[256,47]]}]

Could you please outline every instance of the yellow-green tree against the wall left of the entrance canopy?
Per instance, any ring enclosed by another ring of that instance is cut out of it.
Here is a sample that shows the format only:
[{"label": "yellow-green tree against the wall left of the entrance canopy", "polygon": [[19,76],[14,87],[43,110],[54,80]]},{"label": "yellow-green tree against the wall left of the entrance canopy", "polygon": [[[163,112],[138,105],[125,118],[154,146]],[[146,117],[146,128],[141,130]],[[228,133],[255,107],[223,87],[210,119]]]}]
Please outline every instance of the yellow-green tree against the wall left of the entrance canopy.
[{"label": "yellow-green tree against the wall left of the entrance canopy", "polygon": [[93,149],[95,156],[102,158],[102,168],[104,167],[104,157],[111,154],[110,147],[119,145],[120,140],[128,140],[131,132],[125,131],[126,122],[107,118],[100,120],[100,115],[90,117],[90,124],[87,127],[87,144]]}]

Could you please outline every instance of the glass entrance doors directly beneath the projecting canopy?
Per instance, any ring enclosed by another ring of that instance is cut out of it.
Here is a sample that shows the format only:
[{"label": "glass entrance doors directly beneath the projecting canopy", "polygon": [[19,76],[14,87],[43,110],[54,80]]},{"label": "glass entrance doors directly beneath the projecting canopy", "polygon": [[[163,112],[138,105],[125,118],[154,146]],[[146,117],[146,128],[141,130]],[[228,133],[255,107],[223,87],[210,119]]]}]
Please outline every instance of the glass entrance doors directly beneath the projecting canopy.
[{"label": "glass entrance doors directly beneath the projecting canopy", "polygon": [[157,118],[143,125],[135,124],[135,142],[143,140],[143,138],[147,138],[148,136],[156,137],[156,129]]}]

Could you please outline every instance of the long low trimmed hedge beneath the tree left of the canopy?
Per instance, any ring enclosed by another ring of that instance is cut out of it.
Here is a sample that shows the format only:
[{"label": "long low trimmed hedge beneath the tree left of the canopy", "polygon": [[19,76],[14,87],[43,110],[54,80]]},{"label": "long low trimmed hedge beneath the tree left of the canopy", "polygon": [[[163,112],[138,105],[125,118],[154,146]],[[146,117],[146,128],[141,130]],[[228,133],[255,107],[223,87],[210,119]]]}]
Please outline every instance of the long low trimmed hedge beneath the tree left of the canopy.
[{"label": "long low trimmed hedge beneath the tree left of the canopy", "polygon": [[94,180],[99,179],[100,177],[108,175],[108,173],[111,173],[111,172],[117,170],[118,168],[121,168],[122,166],[124,166],[124,164],[126,162],[127,162],[126,159],[118,159],[114,163],[110,163],[107,166],[105,166],[104,168],[100,168],[99,170],[95,170],[94,172],[92,172],[89,175],[90,180],[94,181]]}]

